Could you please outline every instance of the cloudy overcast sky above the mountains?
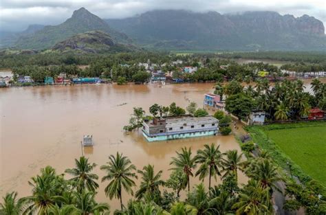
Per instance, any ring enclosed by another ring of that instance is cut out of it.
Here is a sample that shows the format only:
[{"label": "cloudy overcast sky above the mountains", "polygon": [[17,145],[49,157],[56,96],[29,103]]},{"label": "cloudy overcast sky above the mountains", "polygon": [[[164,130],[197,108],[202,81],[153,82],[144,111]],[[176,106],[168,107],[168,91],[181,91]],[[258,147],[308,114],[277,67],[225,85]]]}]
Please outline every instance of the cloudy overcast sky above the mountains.
[{"label": "cloudy overcast sky above the mountains", "polygon": [[30,24],[56,25],[85,7],[101,18],[124,18],[157,9],[215,10],[222,14],[272,10],[280,14],[308,14],[326,23],[325,0],[0,0],[1,31],[24,30]]}]

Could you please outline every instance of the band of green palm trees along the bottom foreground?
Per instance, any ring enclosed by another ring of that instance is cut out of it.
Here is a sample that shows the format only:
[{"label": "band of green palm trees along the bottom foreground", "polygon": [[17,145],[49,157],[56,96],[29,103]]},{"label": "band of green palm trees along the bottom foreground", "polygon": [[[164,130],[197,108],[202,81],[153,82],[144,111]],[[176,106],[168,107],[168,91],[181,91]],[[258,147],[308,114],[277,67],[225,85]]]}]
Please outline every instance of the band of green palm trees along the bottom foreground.
[{"label": "band of green palm trees along the bottom foreground", "polygon": [[[105,194],[109,199],[120,200],[120,210],[113,214],[272,214],[272,193],[277,181],[283,178],[268,156],[248,156],[246,160],[237,150],[222,153],[219,146],[206,144],[193,154],[191,148],[182,148],[171,159],[169,179],[162,179],[162,170],[155,170],[148,164],[141,170],[134,166],[128,157],[120,154],[110,155],[100,170],[105,172]],[[17,192],[6,194],[0,205],[1,214],[109,214],[107,203],[95,200],[98,192],[98,175],[94,174],[95,163],[85,157],[75,159],[74,168],[57,174],[54,168],[47,166],[41,174],[29,181],[32,186],[30,196],[17,198]],[[239,185],[238,172],[244,172],[248,183]],[[137,186],[135,179],[140,179]],[[201,181],[208,180],[208,188],[203,183],[191,184],[193,177]],[[219,177],[221,183],[215,181]],[[317,187],[318,193],[323,188]],[[193,188],[193,189],[191,189]],[[186,199],[180,198],[180,192],[186,190]],[[289,194],[300,188],[289,188]],[[122,195],[134,195],[128,203],[122,202]],[[288,208],[293,205],[309,207],[301,199],[291,197]],[[318,207],[325,203],[315,202],[315,212],[325,212]],[[306,209],[307,209],[306,208]],[[296,208],[293,208],[296,210]]]}]

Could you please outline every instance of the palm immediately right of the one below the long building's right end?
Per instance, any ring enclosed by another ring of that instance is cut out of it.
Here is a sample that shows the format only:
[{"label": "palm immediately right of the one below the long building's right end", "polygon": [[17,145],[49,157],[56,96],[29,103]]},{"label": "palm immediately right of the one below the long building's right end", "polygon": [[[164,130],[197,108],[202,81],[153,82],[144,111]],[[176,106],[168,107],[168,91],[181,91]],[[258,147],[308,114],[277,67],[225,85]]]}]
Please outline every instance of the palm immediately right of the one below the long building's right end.
[{"label": "palm immediately right of the one below the long building's right end", "polygon": [[238,150],[227,150],[226,158],[222,159],[222,172],[225,172],[222,178],[225,178],[230,173],[235,175],[235,179],[238,179],[237,170],[243,170],[243,163],[241,162],[242,153],[238,155]]}]

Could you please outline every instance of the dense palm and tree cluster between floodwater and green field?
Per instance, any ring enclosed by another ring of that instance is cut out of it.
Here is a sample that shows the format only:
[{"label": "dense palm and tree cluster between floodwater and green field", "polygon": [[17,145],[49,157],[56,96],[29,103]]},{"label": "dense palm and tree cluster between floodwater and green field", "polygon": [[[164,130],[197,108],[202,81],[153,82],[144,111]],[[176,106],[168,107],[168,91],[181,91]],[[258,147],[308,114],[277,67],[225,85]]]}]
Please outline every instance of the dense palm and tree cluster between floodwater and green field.
[{"label": "dense palm and tree cluster between floodwater and green field", "polygon": [[326,84],[318,79],[312,81],[310,94],[304,91],[302,80],[283,80],[270,85],[259,80],[255,86],[242,87],[235,80],[222,86],[217,84],[215,93],[226,98],[226,110],[245,119],[252,109],[265,111],[269,120],[288,120],[307,117],[312,107],[326,110]]}]

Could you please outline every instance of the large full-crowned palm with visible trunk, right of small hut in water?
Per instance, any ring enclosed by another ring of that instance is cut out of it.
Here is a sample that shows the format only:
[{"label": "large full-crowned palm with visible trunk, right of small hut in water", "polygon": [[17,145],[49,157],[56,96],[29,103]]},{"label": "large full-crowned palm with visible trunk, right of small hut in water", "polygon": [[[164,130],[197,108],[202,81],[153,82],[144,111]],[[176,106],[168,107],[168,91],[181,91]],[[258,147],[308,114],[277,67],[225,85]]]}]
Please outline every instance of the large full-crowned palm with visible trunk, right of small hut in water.
[{"label": "large full-crowned palm with visible trunk, right of small hut in water", "polygon": [[136,168],[131,164],[128,157],[124,157],[122,154],[119,154],[119,152],[117,152],[116,157],[110,155],[107,164],[108,165],[100,167],[101,170],[107,172],[107,175],[102,177],[102,181],[109,181],[109,184],[105,188],[105,194],[109,196],[110,199],[113,197],[120,199],[122,210],[122,189],[133,195],[133,190],[131,188],[135,186],[135,181],[132,179],[138,178],[134,172]]}]

